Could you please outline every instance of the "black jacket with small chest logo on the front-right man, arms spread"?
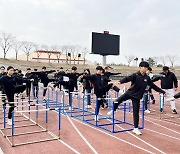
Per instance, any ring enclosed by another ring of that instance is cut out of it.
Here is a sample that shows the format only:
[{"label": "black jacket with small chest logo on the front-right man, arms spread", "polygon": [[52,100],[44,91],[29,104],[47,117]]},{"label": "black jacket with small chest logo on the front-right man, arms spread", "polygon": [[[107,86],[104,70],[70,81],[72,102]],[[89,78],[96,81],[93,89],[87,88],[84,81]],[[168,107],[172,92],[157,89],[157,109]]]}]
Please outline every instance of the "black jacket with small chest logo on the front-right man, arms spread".
[{"label": "black jacket with small chest logo on the front-right man, arms spread", "polygon": [[127,83],[131,81],[131,87],[126,91],[129,95],[136,99],[141,99],[145,90],[153,88],[155,91],[165,93],[162,89],[157,87],[148,75],[142,75],[139,71],[120,80],[120,83]]}]

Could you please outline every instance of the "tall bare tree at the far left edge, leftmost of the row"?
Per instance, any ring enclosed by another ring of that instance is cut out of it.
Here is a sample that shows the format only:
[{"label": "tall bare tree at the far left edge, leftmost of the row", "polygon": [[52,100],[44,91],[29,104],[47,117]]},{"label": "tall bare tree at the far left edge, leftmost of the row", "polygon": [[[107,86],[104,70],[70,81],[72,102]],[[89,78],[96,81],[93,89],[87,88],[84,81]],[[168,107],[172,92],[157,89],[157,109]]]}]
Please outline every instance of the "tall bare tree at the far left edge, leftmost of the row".
[{"label": "tall bare tree at the far left edge, leftmost of the row", "polygon": [[2,37],[0,38],[0,45],[4,52],[4,59],[10,48],[12,48],[15,37],[11,33],[2,32]]}]

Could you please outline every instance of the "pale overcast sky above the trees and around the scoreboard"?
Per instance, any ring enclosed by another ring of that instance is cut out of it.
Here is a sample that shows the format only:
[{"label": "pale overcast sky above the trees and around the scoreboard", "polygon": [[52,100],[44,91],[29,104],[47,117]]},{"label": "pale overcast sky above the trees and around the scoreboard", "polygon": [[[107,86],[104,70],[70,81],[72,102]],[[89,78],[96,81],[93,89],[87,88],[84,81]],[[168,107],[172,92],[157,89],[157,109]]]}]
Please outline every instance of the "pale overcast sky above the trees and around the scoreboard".
[{"label": "pale overcast sky above the trees and around the scoreboard", "polygon": [[109,63],[125,63],[128,54],[179,56],[180,0],[0,0],[0,31],[18,40],[90,50],[91,33],[104,30],[121,36],[121,55]]}]

